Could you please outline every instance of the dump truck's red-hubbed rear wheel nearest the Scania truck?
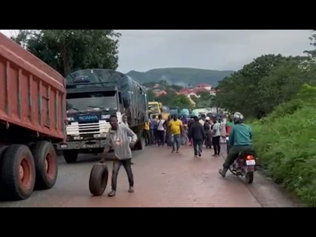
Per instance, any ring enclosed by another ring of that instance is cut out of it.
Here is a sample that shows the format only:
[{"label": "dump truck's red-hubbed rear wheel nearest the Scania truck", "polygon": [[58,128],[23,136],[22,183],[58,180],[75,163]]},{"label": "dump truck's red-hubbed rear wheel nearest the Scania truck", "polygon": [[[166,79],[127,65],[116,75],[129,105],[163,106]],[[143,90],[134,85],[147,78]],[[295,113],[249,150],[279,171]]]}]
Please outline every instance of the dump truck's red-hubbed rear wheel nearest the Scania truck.
[{"label": "dump truck's red-hubbed rear wheel nearest the Scania truck", "polygon": [[45,190],[52,188],[57,180],[58,162],[53,145],[47,141],[34,144],[32,154],[35,162],[35,188]]}]

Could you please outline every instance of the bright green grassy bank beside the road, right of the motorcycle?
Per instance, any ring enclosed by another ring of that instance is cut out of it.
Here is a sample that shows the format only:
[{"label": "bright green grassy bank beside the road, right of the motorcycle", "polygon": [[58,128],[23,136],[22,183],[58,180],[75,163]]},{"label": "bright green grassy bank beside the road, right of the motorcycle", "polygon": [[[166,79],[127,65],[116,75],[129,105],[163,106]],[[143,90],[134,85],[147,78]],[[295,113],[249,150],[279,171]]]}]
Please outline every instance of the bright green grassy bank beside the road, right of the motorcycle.
[{"label": "bright green grassy bank beside the road, right of the motorcycle", "polygon": [[259,162],[268,175],[303,203],[316,207],[316,87],[251,124]]}]

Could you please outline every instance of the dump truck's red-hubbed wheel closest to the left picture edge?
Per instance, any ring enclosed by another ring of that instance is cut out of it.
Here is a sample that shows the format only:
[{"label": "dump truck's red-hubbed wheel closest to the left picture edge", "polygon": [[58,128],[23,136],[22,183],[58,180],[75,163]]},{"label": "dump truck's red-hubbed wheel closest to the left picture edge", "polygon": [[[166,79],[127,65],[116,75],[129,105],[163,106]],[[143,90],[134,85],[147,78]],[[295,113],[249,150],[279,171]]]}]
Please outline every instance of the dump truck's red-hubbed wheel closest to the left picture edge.
[{"label": "dump truck's red-hubbed wheel closest to the left picture edge", "polygon": [[11,145],[1,159],[1,181],[5,198],[29,198],[35,186],[35,163],[30,149],[25,145]]}]

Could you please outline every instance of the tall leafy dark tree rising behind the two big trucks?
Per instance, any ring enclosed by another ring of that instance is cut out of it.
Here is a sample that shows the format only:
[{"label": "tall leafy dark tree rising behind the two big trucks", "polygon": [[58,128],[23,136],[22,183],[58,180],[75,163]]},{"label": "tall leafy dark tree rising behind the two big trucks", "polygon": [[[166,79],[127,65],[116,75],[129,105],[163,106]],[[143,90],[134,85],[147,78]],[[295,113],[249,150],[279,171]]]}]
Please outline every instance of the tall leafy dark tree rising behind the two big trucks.
[{"label": "tall leafy dark tree rising behind the two big trucks", "polygon": [[115,30],[19,30],[11,39],[63,76],[86,68],[117,69]]}]

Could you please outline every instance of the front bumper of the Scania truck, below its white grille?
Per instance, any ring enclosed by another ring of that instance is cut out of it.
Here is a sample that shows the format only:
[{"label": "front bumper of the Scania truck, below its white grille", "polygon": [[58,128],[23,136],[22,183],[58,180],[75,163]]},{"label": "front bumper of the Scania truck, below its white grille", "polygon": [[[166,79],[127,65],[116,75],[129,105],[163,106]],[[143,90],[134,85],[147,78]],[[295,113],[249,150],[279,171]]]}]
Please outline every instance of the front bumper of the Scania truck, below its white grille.
[{"label": "front bumper of the Scania truck, below its white grille", "polygon": [[106,140],[71,141],[57,144],[57,150],[83,150],[104,148]]}]

